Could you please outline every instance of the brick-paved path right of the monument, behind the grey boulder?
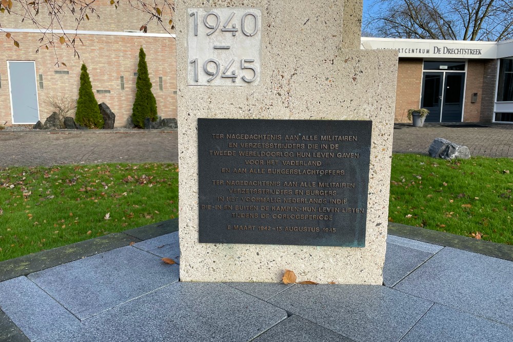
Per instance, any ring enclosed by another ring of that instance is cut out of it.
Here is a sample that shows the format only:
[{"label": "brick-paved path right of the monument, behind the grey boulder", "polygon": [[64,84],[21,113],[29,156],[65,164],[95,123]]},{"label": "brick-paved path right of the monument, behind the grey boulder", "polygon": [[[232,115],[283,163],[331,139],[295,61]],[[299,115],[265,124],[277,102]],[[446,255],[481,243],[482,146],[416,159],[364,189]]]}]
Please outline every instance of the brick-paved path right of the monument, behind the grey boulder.
[{"label": "brick-paved path right of the monument, behind the grey boulder", "polygon": [[[450,124],[447,124],[450,125]],[[393,130],[393,152],[427,154],[435,138],[468,147],[471,156],[513,158],[513,125],[482,124],[489,127],[445,127],[441,124],[396,124]]]}]

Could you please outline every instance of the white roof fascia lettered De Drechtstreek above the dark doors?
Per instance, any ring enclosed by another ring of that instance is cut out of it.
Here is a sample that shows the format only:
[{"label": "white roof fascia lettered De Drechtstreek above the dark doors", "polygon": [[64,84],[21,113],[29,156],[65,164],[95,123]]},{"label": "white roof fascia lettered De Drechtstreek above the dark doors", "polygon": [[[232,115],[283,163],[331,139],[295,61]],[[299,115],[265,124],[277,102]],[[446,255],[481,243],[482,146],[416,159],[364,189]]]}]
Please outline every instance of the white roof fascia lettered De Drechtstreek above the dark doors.
[{"label": "white roof fascia lettered De Drechtstreek above the dark doors", "polygon": [[399,57],[497,58],[496,42],[435,41],[432,39],[394,39],[362,37],[361,48],[397,50]]}]

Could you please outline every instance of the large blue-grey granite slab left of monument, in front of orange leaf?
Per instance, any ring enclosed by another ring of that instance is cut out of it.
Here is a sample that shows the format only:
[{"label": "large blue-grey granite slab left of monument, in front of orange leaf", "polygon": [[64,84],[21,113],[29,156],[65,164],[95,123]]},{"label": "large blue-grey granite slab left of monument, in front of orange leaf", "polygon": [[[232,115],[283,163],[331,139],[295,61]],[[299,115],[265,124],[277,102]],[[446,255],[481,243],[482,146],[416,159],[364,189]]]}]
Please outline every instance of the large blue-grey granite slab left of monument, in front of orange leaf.
[{"label": "large blue-grey granite slab left of monument, in front of orange leaf", "polygon": [[178,281],[179,268],[127,246],[28,277],[75,316],[84,319]]}]

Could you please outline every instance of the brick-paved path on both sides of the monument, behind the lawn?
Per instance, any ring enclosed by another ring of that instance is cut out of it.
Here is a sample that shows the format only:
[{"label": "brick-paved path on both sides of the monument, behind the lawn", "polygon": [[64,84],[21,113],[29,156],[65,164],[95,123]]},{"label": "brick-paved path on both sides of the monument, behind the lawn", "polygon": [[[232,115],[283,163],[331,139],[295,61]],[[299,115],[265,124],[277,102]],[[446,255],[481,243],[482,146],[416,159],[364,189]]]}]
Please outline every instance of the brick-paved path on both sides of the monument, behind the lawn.
[{"label": "brick-paved path on both sides of the monument, behind the lawn", "polygon": [[[513,158],[513,125],[416,128],[396,124],[393,152],[427,153],[435,138],[465,145],[472,156]],[[178,163],[177,131],[0,131],[0,167],[93,163]]]}]

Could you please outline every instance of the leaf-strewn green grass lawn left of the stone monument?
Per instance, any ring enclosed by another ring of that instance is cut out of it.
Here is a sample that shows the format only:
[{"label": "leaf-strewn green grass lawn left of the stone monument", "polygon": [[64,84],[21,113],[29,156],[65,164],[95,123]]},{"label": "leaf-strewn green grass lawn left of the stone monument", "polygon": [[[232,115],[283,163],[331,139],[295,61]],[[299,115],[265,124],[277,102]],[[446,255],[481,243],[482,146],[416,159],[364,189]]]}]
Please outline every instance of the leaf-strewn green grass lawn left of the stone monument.
[{"label": "leaf-strewn green grass lawn left of the stone monument", "polygon": [[173,164],[0,168],[0,260],[178,216]]}]

